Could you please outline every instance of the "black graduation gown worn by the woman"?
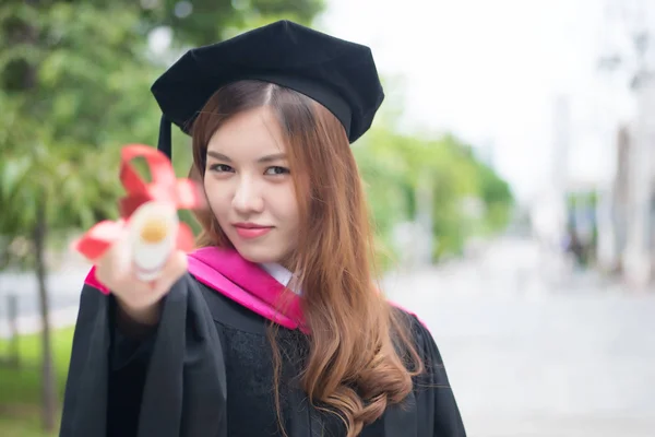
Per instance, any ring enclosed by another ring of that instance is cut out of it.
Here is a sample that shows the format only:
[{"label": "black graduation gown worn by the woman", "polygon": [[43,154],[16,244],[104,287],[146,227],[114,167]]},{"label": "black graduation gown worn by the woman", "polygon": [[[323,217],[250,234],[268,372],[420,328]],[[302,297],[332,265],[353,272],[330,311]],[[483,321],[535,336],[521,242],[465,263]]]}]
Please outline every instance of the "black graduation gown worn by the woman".
[{"label": "black graduation gown worn by the woman", "polygon": [[[269,321],[184,275],[165,298],[144,341],[115,330],[114,299],[84,285],[66,388],[61,437],[283,436],[273,392]],[[429,371],[403,405],[362,437],[462,437],[464,426],[439,350],[407,315]],[[345,436],[333,414],[297,386],[306,342],[279,328],[279,397],[289,437]]]}]

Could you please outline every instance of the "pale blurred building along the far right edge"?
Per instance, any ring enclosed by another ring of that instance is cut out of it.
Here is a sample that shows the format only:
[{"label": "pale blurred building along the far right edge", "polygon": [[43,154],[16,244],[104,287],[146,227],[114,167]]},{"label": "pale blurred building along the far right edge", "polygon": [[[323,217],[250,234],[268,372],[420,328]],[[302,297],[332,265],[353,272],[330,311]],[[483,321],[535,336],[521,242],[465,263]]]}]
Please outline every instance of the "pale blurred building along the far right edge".
[{"label": "pale blurred building along the far right edge", "polygon": [[[600,69],[623,84],[606,105],[631,101],[630,115],[609,109],[612,168],[597,187],[596,264],[617,272],[631,285],[655,283],[655,79],[648,40],[655,2],[605,0],[605,42]],[[621,44],[623,42],[624,44]],[[608,87],[610,85],[608,84]]]}]

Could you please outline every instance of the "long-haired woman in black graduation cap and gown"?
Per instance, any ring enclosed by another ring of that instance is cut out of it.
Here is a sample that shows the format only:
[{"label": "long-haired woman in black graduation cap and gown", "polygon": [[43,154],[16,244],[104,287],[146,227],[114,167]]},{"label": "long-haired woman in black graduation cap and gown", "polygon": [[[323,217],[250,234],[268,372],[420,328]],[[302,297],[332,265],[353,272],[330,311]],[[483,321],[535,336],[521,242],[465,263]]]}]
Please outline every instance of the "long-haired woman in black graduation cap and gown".
[{"label": "long-haired woman in black graduation cap and gown", "polygon": [[153,86],[193,139],[200,249],[142,283],[124,240],[84,286],[62,436],[464,436],[441,357],[371,271],[349,143],[383,94],[367,47],[283,21]]}]

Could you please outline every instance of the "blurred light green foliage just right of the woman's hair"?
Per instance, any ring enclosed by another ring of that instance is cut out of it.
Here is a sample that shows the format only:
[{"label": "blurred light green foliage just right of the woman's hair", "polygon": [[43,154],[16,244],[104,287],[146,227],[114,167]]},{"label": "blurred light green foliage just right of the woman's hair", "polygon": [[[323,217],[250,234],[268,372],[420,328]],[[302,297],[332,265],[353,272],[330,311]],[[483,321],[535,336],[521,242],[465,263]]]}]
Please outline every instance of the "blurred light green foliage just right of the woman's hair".
[{"label": "blurred light green foliage just right of the woman's hair", "polygon": [[377,126],[354,152],[384,250],[392,246],[394,226],[416,218],[421,184],[431,191],[434,260],[458,255],[468,237],[497,233],[509,223],[508,184],[451,135],[421,139]]}]

